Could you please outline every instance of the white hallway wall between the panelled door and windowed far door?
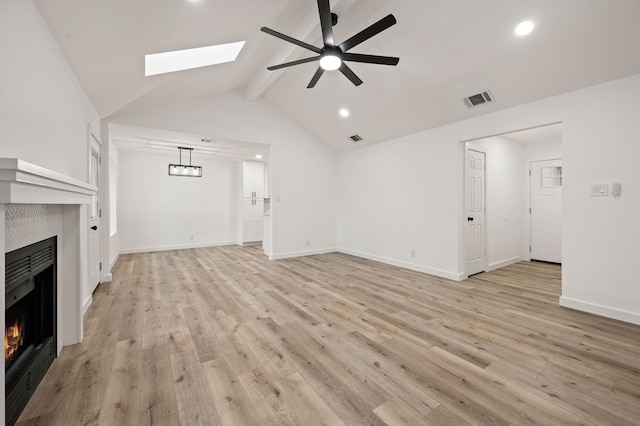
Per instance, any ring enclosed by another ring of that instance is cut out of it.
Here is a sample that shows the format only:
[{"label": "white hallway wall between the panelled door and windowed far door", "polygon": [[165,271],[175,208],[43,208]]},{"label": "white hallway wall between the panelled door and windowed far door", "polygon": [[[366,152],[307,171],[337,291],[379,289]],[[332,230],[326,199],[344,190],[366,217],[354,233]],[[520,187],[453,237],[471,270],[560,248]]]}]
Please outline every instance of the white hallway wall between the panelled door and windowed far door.
[{"label": "white hallway wall between the panelled door and windowed far door", "polygon": [[522,260],[524,149],[501,136],[472,144],[487,154],[485,224],[491,270]]}]

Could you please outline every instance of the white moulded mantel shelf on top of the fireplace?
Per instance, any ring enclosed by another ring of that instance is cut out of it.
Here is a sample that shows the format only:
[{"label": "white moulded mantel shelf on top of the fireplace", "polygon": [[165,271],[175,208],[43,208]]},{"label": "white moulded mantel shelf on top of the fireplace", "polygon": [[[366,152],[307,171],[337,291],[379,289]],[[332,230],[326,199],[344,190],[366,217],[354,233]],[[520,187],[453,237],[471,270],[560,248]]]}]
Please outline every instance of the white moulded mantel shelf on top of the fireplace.
[{"label": "white moulded mantel shelf on top of the fireplace", "polygon": [[17,158],[0,158],[0,204],[89,204],[97,190]]}]

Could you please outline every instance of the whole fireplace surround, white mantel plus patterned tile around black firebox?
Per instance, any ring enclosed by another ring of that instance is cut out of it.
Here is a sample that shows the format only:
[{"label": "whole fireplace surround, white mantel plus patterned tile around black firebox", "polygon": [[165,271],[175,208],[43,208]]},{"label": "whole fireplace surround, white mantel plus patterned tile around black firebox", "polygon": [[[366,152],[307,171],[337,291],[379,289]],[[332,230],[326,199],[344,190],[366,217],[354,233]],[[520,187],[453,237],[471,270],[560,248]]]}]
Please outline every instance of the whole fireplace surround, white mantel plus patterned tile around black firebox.
[{"label": "whole fireplace surround, white mantel plus patterned tile around black firebox", "polygon": [[[88,205],[96,188],[39,166],[0,158],[0,305],[5,307],[4,253],[58,237],[57,352],[82,341],[87,293]],[[4,315],[0,323],[4,329]],[[4,363],[4,358],[3,358]],[[0,368],[4,383],[4,365]],[[0,423],[5,389],[0,390]]]}]

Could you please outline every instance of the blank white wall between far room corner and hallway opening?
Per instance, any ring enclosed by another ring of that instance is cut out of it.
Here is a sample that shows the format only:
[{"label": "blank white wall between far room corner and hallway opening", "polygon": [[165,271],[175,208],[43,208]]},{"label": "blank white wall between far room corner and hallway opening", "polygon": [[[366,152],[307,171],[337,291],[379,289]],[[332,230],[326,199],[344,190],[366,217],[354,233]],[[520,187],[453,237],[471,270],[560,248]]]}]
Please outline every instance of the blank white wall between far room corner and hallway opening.
[{"label": "blank white wall between far room corner and hallway opening", "polygon": [[462,151],[447,139],[437,129],[340,155],[341,251],[458,278]]}]

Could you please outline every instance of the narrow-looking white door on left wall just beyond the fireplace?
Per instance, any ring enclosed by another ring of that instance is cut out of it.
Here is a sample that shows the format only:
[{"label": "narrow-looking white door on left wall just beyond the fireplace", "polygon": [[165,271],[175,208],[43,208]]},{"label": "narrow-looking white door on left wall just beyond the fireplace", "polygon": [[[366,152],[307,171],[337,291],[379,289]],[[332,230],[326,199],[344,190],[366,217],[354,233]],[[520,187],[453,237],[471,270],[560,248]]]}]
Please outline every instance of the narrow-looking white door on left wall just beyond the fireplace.
[{"label": "narrow-looking white door on left wall just beyond the fireplace", "polygon": [[98,187],[98,193],[91,199],[89,218],[89,292],[93,293],[100,284],[100,143],[91,133],[91,156],[89,157],[89,177],[91,185]]}]

